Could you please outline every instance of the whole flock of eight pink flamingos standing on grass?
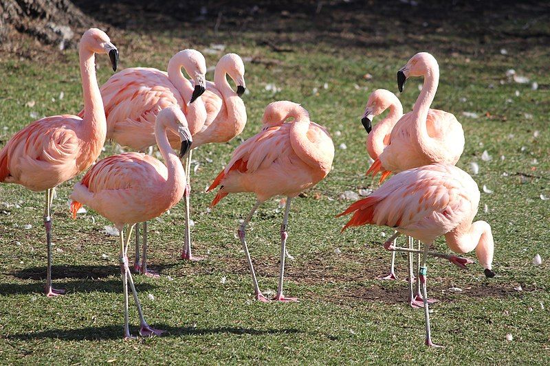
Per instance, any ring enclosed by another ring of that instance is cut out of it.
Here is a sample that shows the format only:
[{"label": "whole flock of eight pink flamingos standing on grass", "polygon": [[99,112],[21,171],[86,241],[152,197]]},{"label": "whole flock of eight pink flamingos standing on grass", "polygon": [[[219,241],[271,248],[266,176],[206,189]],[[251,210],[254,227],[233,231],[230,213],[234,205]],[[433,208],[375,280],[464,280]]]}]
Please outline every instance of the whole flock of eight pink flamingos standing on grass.
[{"label": "whole flock of eight pink flamingos standing on grass", "polygon": [[[161,334],[149,326],[142,314],[127,257],[131,233],[136,227],[133,269],[154,275],[146,268],[146,221],[176,205],[185,197],[186,238],[182,258],[191,254],[189,225],[190,155],[192,148],[229,141],[246,123],[244,65],[236,54],[223,56],[215,69],[214,82],[206,81],[206,62],[197,51],[178,52],[168,62],[168,72],[135,67],[115,73],[101,88],[95,71],[95,54],[108,54],[113,71],[118,50],[109,36],[98,29],[85,32],[80,40],[80,74],[84,109],[78,115],[56,115],[32,122],[8,141],[0,152],[0,181],[17,183],[33,191],[45,191],[44,225],[48,260],[45,293],[61,295],[52,288],[52,216],[54,188],[89,168],[71,194],[74,218],[87,205],[111,220],[120,232],[120,268],[124,290],[124,337],[129,332],[128,285],[140,317],[140,334]],[[192,80],[181,73],[183,67]],[[234,80],[236,92],[228,83]],[[423,77],[423,88],[409,113],[403,114],[395,94],[379,89],[371,93],[362,124],[368,137],[366,150],[374,159],[367,172],[382,173],[381,183],[396,173],[373,194],[353,203],[338,216],[353,214],[344,226],[365,224],[392,227],[395,234],[384,247],[393,252],[391,272],[395,279],[395,251],[408,253],[410,306],[423,308],[426,317],[426,345],[430,336],[430,312],[426,293],[428,256],[445,258],[461,268],[471,260],[430,251],[434,240],[445,236],[455,253],[476,250],[487,277],[494,277],[494,242],[487,222],[476,221],[480,193],[474,180],[454,164],[464,148],[464,133],[454,115],[430,109],[439,82],[439,66],[433,56],[416,54],[397,73],[399,91],[410,77]],[[374,128],[372,119],[389,108],[388,115]],[[254,211],[268,198],[287,196],[281,225],[281,268],[275,301],[296,301],[283,295],[285,244],[292,198],[313,187],[329,174],[334,146],[322,126],[311,122],[309,113],[288,101],[265,108],[261,131],[234,150],[208,190],[219,187],[213,207],[230,193],[253,192],[256,204],[239,226],[239,238],[250,266],[254,293],[268,301],[258,286],[245,228]],[[105,139],[112,139],[135,152],[124,152],[96,162]],[[157,146],[165,164],[144,154]],[[179,148],[179,155],[173,149]],[[186,168],[181,158],[186,157]],[[95,163],[95,164],[94,164]],[[91,167],[91,168],[90,168]],[[142,258],[137,225],[143,222]],[[126,238],[124,238],[124,227]],[[397,236],[408,236],[408,246],[397,247]],[[419,240],[415,247],[415,239]],[[420,249],[420,242],[424,247]],[[417,290],[413,290],[413,256],[417,255]],[[422,258],[420,259],[420,255]]]}]

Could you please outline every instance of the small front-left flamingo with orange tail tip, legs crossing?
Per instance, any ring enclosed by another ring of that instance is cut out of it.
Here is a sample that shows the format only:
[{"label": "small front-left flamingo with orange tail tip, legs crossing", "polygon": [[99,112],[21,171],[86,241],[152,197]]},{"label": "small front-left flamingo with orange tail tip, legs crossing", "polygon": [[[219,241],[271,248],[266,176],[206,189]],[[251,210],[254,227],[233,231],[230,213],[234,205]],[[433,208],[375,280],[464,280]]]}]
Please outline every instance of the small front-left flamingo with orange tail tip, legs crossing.
[{"label": "small front-left flamingo with orange tail tip, legs crossing", "polygon": [[[168,131],[181,140],[179,157],[168,141]],[[128,320],[128,282],[140,317],[140,334],[151,336],[161,330],[151,328],[145,321],[140,300],[128,265],[128,244],[137,222],[162,215],[181,200],[185,190],[185,172],[179,160],[192,143],[186,117],[179,106],[168,106],[157,113],[155,137],[165,166],[157,159],[140,152],[113,155],[98,162],[74,186],[71,212],[76,218],[80,207],[88,205],[111,220],[120,232],[120,271],[124,290],[124,338],[131,338]],[[129,225],[124,241],[124,226]]]}]

